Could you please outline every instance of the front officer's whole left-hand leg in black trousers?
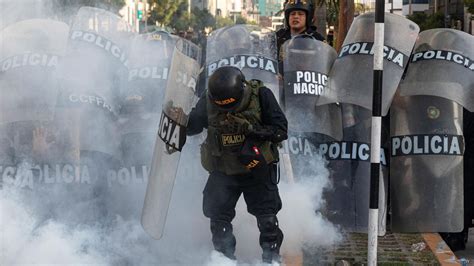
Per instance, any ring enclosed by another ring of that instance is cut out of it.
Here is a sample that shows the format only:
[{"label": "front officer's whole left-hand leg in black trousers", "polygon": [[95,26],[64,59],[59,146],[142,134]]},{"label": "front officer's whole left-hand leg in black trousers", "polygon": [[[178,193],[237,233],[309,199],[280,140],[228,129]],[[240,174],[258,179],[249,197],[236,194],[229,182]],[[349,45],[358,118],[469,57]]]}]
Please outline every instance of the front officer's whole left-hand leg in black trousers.
[{"label": "front officer's whole left-hand leg in black trousers", "polygon": [[233,177],[218,172],[209,175],[203,192],[203,212],[211,219],[214,249],[230,259],[235,259],[236,240],[231,222],[240,194]]}]

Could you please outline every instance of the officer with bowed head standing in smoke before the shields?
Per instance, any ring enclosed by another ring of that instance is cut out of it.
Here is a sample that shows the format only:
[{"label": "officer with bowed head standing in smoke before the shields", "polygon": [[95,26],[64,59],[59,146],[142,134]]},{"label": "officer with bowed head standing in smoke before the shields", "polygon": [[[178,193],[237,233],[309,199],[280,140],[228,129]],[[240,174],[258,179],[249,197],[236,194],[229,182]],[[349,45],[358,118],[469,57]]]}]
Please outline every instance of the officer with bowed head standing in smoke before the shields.
[{"label": "officer with bowed head standing in smoke before the shields", "polygon": [[214,248],[235,259],[232,233],[235,206],[244,195],[257,218],[262,259],[280,261],[283,233],[276,214],[281,209],[277,167],[279,142],[287,139],[288,122],[273,93],[259,80],[246,81],[231,66],[217,69],[208,90],[190,113],[188,135],[207,128],[201,163],[209,172],[203,212],[211,220]]}]

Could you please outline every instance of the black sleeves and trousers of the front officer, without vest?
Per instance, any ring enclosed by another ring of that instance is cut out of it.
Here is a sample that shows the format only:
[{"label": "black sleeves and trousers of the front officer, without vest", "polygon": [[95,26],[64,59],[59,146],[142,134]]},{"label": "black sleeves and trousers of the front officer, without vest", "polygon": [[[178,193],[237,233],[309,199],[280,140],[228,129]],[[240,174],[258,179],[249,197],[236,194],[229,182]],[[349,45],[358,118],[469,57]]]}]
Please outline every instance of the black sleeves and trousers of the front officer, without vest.
[{"label": "black sleeves and trousers of the front officer, without vest", "polygon": [[[263,134],[253,137],[273,143],[285,140],[288,122],[273,93],[266,87],[260,87],[258,97]],[[190,113],[188,135],[198,134],[208,128],[208,103],[207,94],[204,93]],[[283,233],[278,227],[276,214],[282,203],[277,186],[276,164],[269,166],[258,174],[227,175],[220,171],[212,171],[209,174],[203,192],[203,212],[211,219],[214,248],[229,258],[235,258],[236,240],[231,222],[235,217],[235,206],[241,194],[244,195],[248,212],[257,218],[263,260],[271,262],[272,258],[275,260],[279,257]]]}]

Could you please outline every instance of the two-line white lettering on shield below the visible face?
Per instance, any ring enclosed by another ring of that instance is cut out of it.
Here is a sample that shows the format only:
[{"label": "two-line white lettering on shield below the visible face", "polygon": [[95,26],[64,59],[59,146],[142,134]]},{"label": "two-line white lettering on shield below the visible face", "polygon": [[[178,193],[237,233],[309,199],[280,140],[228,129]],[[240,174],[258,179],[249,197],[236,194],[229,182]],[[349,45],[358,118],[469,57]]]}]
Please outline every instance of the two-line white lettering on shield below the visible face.
[{"label": "two-line white lettering on shield below the visible face", "polygon": [[328,76],[314,71],[291,71],[285,73],[288,86],[294,95],[322,95],[326,89]]}]

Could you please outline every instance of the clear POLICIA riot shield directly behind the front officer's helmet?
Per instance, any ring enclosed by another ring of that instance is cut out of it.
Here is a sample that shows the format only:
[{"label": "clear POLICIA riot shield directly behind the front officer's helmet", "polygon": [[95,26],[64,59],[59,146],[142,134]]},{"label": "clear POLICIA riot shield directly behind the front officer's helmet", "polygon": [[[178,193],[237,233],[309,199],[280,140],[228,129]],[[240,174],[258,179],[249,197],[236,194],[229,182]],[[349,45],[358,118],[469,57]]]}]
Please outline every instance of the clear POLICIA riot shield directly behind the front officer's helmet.
[{"label": "clear POLICIA riot shield directly behind the front officer's helmet", "polygon": [[211,32],[206,51],[206,80],[217,68],[232,65],[247,80],[263,81],[280,98],[274,32],[253,25],[228,26]]}]

